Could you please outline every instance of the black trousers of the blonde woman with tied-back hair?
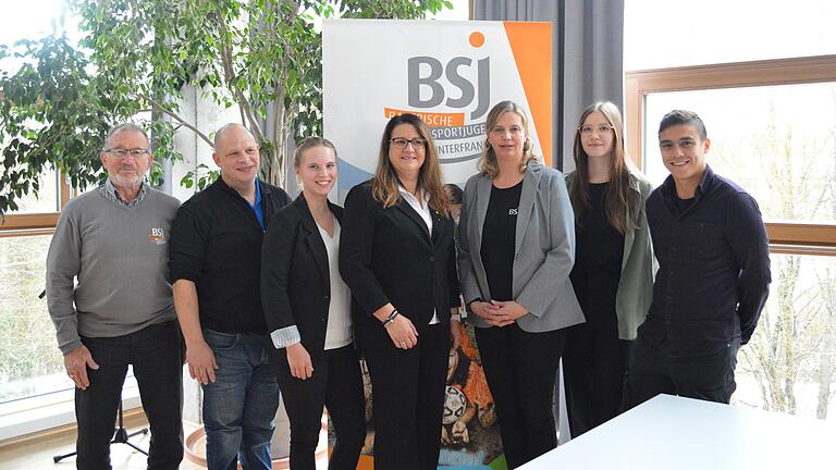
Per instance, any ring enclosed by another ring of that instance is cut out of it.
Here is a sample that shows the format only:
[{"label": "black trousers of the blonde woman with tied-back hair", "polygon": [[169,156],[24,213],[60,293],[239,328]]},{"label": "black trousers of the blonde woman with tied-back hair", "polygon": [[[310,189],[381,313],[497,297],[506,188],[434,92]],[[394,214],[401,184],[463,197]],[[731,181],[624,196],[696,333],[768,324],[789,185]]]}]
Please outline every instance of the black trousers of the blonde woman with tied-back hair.
[{"label": "black trousers of the blonde woman with tied-back hair", "polygon": [[286,363],[276,366],[273,370],[291,421],[291,468],[316,469],[324,405],[336,432],[328,468],[355,469],[366,440],[366,408],[354,345],[325,350],[307,380],[291,375]]}]

